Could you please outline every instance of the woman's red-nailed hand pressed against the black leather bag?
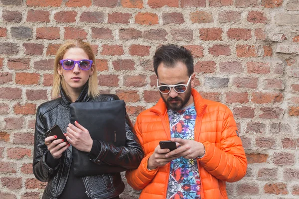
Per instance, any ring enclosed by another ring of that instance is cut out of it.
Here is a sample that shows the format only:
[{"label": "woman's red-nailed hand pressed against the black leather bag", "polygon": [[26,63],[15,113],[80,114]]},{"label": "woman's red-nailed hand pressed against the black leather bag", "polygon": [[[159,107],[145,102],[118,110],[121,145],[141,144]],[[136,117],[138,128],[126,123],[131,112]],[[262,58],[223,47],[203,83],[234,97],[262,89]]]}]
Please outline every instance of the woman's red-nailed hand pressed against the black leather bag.
[{"label": "woman's red-nailed hand pressed against the black leather bag", "polygon": [[93,144],[89,131],[77,121],[75,121],[75,125],[69,124],[66,128],[66,139],[76,149],[89,153]]}]

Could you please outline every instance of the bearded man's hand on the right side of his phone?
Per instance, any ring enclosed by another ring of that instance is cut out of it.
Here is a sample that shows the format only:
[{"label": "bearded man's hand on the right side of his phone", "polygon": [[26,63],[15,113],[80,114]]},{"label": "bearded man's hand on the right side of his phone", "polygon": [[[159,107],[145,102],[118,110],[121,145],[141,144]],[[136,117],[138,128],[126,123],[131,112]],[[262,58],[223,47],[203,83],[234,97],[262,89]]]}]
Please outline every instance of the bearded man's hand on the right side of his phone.
[{"label": "bearded man's hand on the right side of his phone", "polygon": [[165,157],[181,156],[185,159],[195,159],[204,155],[204,145],[194,140],[171,138],[171,142],[177,142],[180,147],[165,154]]}]

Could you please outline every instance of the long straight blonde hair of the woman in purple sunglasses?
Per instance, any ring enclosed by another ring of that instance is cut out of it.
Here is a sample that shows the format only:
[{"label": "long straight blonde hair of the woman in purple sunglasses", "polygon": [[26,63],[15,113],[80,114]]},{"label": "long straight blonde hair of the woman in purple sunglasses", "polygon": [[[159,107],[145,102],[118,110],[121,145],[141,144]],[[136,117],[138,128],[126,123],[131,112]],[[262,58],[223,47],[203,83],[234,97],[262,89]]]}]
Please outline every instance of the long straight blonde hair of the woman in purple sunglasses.
[{"label": "long straight blonde hair of the woman in purple sunglasses", "polygon": [[92,98],[96,98],[99,96],[98,91],[98,79],[97,79],[97,67],[95,55],[92,51],[92,48],[89,43],[84,42],[82,40],[69,39],[66,40],[57,50],[55,60],[54,60],[54,77],[53,77],[53,88],[52,88],[52,97],[57,98],[60,94],[60,85],[66,95],[69,96],[65,81],[62,75],[58,74],[58,67],[61,67],[59,61],[63,59],[65,52],[70,48],[81,48],[88,55],[88,58],[93,61],[94,71],[93,74],[89,77],[88,80],[88,93],[87,95]]}]

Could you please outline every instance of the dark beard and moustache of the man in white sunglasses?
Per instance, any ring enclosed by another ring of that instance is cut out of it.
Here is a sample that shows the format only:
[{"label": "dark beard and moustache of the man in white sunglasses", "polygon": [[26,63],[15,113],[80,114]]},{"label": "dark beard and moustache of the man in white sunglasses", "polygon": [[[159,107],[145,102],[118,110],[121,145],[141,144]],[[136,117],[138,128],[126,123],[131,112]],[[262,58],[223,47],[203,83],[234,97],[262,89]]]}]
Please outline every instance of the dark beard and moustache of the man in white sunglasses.
[{"label": "dark beard and moustache of the man in white sunglasses", "polygon": [[[172,89],[173,89],[173,88],[172,88]],[[159,93],[160,93],[160,92],[159,92]],[[177,97],[175,97],[175,98],[171,98],[171,97],[169,97],[169,98],[167,98],[167,100],[166,100],[166,99],[163,98],[163,95],[164,95],[164,94],[161,94],[161,93],[160,93],[160,96],[161,96],[161,98],[163,99],[164,103],[166,104],[167,108],[170,108],[170,109],[172,109],[172,110],[177,111],[177,110],[182,109],[182,107],[184,107],[184,106],[186,105],[186,103],[189,101],[189,99],[190,99],[190,97],[191,97],[191,87],[188,87],[188,88],[187,88],[187,91],[184,93],[184,96],[185,96],[184,99],[182,99],[182,98],[180,98],[180,97],[177,96]],[[169,101],[171,101],[171,100],[176,100],[177,102],[175,102],[175,103],[171,103],[171,102],[169,102]]]}]

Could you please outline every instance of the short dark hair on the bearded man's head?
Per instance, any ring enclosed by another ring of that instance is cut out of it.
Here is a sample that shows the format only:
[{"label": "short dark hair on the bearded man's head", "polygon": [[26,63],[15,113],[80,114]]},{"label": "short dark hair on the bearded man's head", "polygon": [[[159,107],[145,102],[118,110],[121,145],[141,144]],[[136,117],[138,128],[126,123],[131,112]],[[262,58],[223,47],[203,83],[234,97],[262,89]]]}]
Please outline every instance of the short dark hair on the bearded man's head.
[{"label": "short dark hair on the bearded man's head", "polygon": [[162,45],[153,56],[153,69],[158,77],[158,66],[163,62],[167,67],[174,67],[177,62],[182,62],[187,66],[188,76],[194,72],[193,56],[189,50],[183,46],[174,44]]}]

